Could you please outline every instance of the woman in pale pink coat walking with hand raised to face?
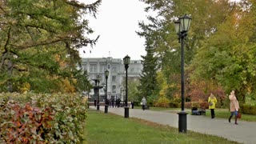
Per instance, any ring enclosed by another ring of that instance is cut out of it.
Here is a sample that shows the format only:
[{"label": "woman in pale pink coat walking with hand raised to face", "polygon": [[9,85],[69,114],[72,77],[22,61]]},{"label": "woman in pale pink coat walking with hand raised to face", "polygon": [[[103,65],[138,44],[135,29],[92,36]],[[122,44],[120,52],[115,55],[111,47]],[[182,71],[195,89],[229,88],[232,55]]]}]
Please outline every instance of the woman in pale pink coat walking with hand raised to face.
[{"label": "woman in pale pink coat walking with hand raised to face", "polygon": [[229,98],[230,98],[230,118],[229,118],[229,122],[230,122],[231,118],[234,115],[234,124],[238,125],[239,103],[238,103],[238,99],[234,95],[234,90],[231,91]]}]

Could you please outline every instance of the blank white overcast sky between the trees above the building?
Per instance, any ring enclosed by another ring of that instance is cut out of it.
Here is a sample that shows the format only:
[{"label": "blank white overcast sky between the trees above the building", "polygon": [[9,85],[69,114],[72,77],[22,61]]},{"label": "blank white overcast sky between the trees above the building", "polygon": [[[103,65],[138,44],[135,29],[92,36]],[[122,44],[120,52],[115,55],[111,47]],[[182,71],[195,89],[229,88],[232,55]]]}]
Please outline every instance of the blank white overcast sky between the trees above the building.
[{"label": "blank white overcast sky between the trees above the building", "polygon": [[[86,4],[95,0],[79,0]],[[87,46],[80,50],[82,58],[124,58],[142,59],[145,55],[145,38],[140,38],[135,31],[139,21],[146,21],[146,4],[138,0],[102,0],[98,7],[97,19],[90,18],[89,26],[94,30],[90,38],[100,35],[96,46]],[[86,54],[82,51],[85,50]],[[91,50],[91,53],[90,53]]]}]

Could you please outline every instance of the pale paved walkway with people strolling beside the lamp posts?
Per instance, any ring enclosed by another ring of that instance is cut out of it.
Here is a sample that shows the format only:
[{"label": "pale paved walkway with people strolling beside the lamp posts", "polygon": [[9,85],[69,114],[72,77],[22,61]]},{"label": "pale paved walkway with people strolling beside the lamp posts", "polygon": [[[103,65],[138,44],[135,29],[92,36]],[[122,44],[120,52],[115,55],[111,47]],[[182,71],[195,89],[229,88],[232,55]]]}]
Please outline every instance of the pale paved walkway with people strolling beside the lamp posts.
[{"label": "pale paved walkway with people strolling beside the lamp posts", "polygon": [[[94,108],[94,106],[90,106]],[[100,107],[104,111],[104,106]],[[109,113],[123,115],[124,109],[109,108]],[[157,122],[163,125],[169,125],[178,128],[178,114],[153,110],[130,109],[129,117],[142,118],[150,122]],[[208,112],[208,111],[207,111]],[[211,119],[205,116],[187,115],[187,130],[193,130],[202,134],[212,134],[219,137],[227,138],[231,141],[246,144],[256,143],[256,122],[239,121],[238,125],[234,125],[234,117],[231,123],[227,118]]]}]

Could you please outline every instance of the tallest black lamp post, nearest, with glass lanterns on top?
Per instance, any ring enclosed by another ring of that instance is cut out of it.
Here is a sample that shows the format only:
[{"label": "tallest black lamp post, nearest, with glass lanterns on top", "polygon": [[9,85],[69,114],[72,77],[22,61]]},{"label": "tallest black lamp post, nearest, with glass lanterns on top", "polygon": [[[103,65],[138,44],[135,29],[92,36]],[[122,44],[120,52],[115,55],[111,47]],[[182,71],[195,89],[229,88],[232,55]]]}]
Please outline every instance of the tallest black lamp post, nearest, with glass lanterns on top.
[{"label": "tallest black lamp post, nearest, with glass lanterns on top", "polygon": [[175,30],[178,34],[178,40],[182,46],[182,111],[178,113],[178,132],[186,133],[186,111],[184,110],[184,92],[185,92],[185,78],[184,78],[184,39],[190,29],[191,19],[188,15],[178,18],[178,22],[174,22]]}]

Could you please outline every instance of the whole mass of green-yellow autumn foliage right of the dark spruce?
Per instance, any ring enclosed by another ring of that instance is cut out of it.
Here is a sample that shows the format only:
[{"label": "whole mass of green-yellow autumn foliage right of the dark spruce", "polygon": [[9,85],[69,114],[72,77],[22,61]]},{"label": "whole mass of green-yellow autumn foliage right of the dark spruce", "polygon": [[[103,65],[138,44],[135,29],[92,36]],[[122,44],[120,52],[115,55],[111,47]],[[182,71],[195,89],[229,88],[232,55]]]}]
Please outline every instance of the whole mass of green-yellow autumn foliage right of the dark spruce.
[{"label": "whole mass of green-yellow autumn foliage right of the dark spruce", "polygon": [[[152,47],[158,58],[162,78],[167,86],[162,91],[178,102],[180,93],[180,44],[174,21],[190,14],[192,22],[185,41],[186,101],[205,101],[216,92],[220,106],[226,106],[225,94],[236,91],[244,103],[246,94],[254,94],[255,73],[255,1],[238,3],[228,0],[142,0],[156,16],[149,24],[139,22],[146,46]],[[150,42],[150,43],[147,43]],[[160,95],[159,95],[160,96]]]}]

